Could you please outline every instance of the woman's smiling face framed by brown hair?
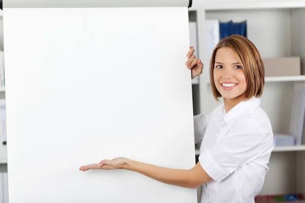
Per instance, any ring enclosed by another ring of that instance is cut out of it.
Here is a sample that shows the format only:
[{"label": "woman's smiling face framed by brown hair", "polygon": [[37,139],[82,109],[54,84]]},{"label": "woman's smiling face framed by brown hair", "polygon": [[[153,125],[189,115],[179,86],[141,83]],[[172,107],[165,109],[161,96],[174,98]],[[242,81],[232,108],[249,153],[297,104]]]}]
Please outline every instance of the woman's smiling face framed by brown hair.
[{"label": "woman's smiling face framed by brown hair", "polygon": [[224,99],[244,96],[246,76],[232,49],[224,47],[216,52],[214,82]]}]

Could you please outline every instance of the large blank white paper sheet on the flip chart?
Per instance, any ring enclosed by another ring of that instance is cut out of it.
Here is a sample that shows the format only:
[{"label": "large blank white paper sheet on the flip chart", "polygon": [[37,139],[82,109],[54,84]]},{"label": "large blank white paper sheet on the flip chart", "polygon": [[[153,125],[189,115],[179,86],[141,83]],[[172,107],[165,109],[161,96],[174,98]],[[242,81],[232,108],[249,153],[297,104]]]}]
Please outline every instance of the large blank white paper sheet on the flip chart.
[{"label": "large blank white paper sheet on the flip chart", "polygon": [[197,202],[81,165],[195,165],[187,8],[4,9],[10,203]]}]

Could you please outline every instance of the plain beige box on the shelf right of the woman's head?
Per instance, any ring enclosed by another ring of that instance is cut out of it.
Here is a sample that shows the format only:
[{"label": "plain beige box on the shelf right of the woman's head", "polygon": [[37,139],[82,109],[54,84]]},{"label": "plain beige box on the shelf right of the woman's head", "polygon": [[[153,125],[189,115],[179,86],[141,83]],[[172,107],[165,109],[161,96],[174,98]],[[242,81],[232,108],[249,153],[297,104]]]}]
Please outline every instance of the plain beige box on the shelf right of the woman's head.
[{"label": "plain beige box on the shelf right of the woman's head", "polygon": [[301,75],[301,60],[298,56],[265,58],[265,76],[299,76]]}]

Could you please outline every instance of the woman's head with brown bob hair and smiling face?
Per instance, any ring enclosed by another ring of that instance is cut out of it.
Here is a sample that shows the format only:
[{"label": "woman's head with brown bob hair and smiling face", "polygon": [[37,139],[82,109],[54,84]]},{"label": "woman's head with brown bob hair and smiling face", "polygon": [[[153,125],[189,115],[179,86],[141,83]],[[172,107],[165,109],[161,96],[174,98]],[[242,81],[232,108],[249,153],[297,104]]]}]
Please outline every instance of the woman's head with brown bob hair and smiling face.
[{"label": "woman's head with brown bob hair and smiling face", "polygon": [[236,101],[262,95],[264,64],[247,38],[232,35],[221,41],[212,53],[210,64],[211,87],[217,100],[223,96],[226,103],[234,106]]}]

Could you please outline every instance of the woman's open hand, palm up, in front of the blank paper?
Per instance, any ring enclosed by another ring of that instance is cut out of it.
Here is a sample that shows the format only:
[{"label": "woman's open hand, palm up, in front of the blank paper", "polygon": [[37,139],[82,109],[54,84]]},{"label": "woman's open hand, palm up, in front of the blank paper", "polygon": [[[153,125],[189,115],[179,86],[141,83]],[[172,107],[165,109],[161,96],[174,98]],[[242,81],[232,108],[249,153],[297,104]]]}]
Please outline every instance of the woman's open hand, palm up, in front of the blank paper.
[{"label": "woman's open hand, palm up, in front of the blank paper", "polygon": [[112,160],[104,159],[100,163],[93,163],[89,165],[83,165],[79,168],[79,171],[87,171],[93,169],[102,169],[102,170],[113,170],[113,169],[124,169],[124,166],[127,164],[128,159],[125,157],[117,157]]}]

